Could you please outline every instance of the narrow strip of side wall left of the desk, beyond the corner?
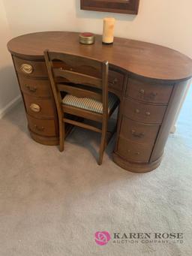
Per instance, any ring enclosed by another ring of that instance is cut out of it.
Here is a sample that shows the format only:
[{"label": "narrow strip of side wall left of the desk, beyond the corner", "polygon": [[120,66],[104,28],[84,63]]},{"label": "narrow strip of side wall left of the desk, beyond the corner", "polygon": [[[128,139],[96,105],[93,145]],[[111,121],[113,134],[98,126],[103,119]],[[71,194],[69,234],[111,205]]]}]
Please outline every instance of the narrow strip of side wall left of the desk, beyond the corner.
[{"label": "narrow strip of side wall left of the desk, beyond the corner", "polygon": [[7,41],[10,40],[10,29],[7,23],[5,7],[0,0],[0,118],[9,109],[10,103],[17,101],[20,95],[10,54],[7,52]]}]

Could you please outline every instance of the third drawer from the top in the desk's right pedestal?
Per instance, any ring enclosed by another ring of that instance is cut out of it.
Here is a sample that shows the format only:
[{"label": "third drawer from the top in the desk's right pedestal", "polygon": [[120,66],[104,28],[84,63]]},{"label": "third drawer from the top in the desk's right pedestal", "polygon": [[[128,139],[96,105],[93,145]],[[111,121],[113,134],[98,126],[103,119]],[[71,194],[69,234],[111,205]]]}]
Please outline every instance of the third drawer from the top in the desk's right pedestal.
[{"label": "third drawer from the top in the desk's right pedestal", "polygon": [[143,125],[123,116],[120,136],[135,143],[153,146],[159,128],[159,125]]}]

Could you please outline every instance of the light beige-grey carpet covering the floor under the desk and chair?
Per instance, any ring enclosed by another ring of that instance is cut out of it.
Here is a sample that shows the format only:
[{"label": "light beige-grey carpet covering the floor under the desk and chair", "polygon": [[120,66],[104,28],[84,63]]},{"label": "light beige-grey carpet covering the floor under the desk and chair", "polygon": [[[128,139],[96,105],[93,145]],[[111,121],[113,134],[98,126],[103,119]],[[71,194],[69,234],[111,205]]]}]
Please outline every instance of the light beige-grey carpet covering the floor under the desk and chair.
[{"label": "light beige-grey carpet covering the floor under the desk and chair", "polygon": [[[169,137],[161,166],[135,174],[96,163],[99,137],[77,128],[65,144],[29,137],[23,104],[0,120],[0,256],[191,255],[192,147]],[[107,230],[107,245],[95,232]],[[113,233],[184,233],[183,243],[113,242]]]}]

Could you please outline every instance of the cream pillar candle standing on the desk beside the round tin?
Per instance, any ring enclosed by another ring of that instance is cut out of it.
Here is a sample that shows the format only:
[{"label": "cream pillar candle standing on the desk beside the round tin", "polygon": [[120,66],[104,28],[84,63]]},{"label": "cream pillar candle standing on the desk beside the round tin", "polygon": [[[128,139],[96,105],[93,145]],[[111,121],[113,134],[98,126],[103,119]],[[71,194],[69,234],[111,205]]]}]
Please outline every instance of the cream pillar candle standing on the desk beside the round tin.
[{"label": "cream pillar candle standing on the desk beside the round tin", "polygon": [[115,29],[115,19],[114,18],[104,18],[104,31],[103,31],[103,43],[104,44],[113,44],[114,29]]}]

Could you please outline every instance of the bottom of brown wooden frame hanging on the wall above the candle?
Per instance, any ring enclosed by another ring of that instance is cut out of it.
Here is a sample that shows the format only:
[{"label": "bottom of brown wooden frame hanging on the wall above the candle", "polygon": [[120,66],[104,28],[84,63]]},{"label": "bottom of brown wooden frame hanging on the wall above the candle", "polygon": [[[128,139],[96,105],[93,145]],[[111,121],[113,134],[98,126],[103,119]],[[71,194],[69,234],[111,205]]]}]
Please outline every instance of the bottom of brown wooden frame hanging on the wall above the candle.
[{"label": "bottom of brown wooden frame hanging on the wall above the candle", "polygon": [[82,10],[138,14],[139,0],[81,0]]}]

